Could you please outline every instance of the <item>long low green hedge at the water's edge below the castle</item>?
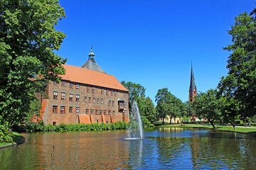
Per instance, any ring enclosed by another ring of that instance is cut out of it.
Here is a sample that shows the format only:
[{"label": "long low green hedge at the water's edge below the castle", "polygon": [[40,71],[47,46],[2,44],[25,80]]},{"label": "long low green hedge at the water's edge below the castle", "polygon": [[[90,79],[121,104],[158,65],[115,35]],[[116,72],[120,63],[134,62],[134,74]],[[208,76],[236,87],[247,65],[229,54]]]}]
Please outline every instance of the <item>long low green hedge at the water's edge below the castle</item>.
[{"label": "long low green hedge at the water's edge below the castle", "polygon": [[43,123],[28,123],[27,125],[21,125],[14,127],[17,132],[67,132],[67,131],[89,131],[89,130],[121,130],[126,129],[128,123],[91,123],[91,124],[64,124],[60,125],[44,125]]}]

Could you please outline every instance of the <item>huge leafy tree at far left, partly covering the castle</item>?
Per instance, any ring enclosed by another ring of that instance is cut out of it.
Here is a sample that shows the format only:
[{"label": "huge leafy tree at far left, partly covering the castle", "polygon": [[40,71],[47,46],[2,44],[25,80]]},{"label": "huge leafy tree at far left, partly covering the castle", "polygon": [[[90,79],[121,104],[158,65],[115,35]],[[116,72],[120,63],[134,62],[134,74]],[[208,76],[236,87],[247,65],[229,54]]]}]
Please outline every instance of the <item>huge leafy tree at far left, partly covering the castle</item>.
[{"label": "huge leafy tree at far left, partly covering the castle", "polygon": [[65,73],[53,52],[65,38],[55,30],[65,13],[58,0],[1,0],[0,11],[0,124],[15,125],[28,117],[35,92]]}]

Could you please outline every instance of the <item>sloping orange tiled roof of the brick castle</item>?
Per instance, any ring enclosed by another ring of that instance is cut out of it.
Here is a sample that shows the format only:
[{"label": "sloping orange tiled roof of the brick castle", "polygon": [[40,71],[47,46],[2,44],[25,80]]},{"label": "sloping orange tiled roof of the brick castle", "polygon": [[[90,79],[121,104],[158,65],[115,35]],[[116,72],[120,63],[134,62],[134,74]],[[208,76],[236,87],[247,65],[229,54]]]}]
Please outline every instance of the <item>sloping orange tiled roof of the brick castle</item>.
[{"label": "sloping orange tiled roof of the brick castle", "polygon": [[114,76],[91,69],[63,64],[65,74],[59,75],[61,79],[82,84],[90,84],[110,89],[128,91]]}]

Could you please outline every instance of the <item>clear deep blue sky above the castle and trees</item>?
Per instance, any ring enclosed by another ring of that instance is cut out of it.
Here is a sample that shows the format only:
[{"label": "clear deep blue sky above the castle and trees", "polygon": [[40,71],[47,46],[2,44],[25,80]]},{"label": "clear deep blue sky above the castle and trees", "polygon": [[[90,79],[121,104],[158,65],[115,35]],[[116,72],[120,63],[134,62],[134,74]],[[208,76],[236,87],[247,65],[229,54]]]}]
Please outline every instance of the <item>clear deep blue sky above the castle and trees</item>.
[{"label": "clear deep blue sky above the castle and trees", "polygon": [[198,91],[215,89],[227,74],[235,16],[255,7],[252,0],[60,0],[67,16],[57,30],[67,35],[60,57],[81,67],[93,45],[95,61],[119,81],[158,89],[188,101],[191,61]]}]

